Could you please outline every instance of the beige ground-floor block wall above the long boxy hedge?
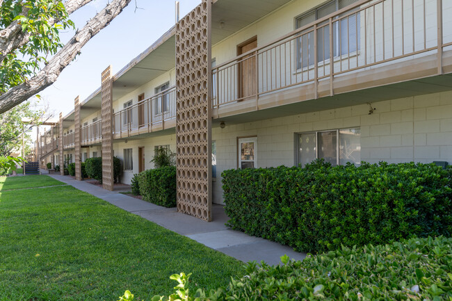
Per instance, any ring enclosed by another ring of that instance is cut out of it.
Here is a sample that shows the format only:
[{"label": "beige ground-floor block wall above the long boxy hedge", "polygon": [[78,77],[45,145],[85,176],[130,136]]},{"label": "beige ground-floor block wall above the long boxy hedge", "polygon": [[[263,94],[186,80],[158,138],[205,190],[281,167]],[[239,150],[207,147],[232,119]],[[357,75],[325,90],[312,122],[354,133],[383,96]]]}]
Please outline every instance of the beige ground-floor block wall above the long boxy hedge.
[{"label": "beige ground-floor block wall above the long boxy hedge", "polygon": [[221,204],[221,172],[237,168],[237,137],[257,136],[257,167],[295,164],[295,133],[360,127],[361,160],[452,164],[452,92],[392,99],[369,105],[226,124],[213,129],[217,174],[213,202]]}]

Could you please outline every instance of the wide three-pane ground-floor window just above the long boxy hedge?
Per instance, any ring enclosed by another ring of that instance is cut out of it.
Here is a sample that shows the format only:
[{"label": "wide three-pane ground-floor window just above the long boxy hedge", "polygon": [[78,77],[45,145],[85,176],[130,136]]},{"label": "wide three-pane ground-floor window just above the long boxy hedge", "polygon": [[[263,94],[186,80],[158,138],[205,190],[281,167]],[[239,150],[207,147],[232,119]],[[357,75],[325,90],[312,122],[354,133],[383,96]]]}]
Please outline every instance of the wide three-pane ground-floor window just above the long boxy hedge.
[{"label": "wide three-pane ground-floor window just above the long boxy hedge", "polygon": [[332,165],[361,163],[360,129],[339,129],[297,134],[297,164],[323,158]]}]

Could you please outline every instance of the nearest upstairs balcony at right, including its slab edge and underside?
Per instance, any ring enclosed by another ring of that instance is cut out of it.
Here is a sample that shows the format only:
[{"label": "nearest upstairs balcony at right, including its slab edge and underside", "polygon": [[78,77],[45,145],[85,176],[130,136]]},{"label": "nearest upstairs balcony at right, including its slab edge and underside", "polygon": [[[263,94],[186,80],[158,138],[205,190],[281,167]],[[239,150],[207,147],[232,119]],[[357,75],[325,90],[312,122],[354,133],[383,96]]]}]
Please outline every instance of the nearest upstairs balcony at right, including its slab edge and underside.
[{"label": "nearest upstairs balcony at right, including its slab edge and underside", "polygon": [[451,16],[450,0],[357,1],[214,67],[213,117],[451,90]]}]

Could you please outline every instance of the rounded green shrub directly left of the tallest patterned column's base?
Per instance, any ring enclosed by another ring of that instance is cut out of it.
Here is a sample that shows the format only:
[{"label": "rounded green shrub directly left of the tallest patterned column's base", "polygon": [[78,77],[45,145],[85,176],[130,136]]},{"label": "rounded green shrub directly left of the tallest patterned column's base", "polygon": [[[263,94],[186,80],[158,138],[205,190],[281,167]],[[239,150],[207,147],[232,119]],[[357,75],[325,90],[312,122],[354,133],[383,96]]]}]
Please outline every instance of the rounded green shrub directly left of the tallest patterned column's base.
[{"label": "rounded green shrub directly left of the tallest patterned column's base", "polygon": [[175,166],[140,172],[138,186],[143,200],[168,208],[176,206]]}]

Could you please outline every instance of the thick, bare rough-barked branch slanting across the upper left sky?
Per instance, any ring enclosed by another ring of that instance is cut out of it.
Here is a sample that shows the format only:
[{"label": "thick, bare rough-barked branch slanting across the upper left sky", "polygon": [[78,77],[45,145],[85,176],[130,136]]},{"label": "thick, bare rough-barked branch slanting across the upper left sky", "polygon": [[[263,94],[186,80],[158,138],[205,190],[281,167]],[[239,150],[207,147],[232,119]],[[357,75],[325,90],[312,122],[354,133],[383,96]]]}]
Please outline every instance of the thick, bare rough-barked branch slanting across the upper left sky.
[{"label": "thick, bare rough-barked branch slanting across the upper left sky", "polygon": [[15,86],[3,95],[0,95],[0,113],[26,101],[36,93],[44,90],[58,79],[61,71],[74,60],[90,38],[121,13],[131,0],[113,0],[88,23],[77,32],[65,46],[58,51],[49,63],[29,81]]}]

